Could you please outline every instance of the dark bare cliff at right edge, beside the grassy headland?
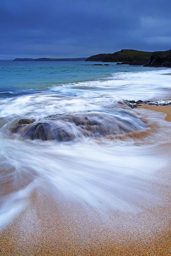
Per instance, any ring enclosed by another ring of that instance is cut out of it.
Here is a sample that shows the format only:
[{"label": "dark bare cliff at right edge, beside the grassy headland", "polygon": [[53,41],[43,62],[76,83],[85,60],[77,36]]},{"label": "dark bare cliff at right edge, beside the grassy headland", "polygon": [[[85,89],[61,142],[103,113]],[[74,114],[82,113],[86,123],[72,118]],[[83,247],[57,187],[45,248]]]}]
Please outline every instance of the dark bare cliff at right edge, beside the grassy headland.
[{"label": "dark bare cliff at right edge, beside the grassy headland", "polygon": [[171,50],[154,51],[147,64],[144,67],[171,67]]}]

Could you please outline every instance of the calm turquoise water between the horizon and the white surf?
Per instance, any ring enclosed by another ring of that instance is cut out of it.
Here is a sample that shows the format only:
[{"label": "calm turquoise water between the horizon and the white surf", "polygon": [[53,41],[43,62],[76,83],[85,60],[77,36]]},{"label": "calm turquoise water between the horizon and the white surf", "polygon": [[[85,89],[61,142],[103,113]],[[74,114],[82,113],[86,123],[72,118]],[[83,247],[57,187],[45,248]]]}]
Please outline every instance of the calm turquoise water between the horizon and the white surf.
[{"label": "calm turquoise water between the horizon and the white surf", "polygon": [[107,78],[115,72],[138,72],[149,69],[142,66],[120,66],[110,62],[105,63],[109,66],[91,66],[101,63],[84,61],[1,62],[1,88],[2,90],[5,88],[42,90],[59,84]]}]

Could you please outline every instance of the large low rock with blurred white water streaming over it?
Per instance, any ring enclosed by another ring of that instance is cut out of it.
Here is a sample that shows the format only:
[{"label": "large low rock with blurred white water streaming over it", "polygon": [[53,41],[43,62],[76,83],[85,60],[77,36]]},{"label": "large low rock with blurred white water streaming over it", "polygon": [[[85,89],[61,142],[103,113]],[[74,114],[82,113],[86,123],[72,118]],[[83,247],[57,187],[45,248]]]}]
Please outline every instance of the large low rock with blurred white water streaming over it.
[{"label": "large low rock with blurred white water streaming over it", "polygon": [[65,142],[75,138],[97,138],[129,133],[145,127],[145,124],[129,111],[117,109],[113,114],[104,112],[56,114],[44,118],[41,122],[34,121],[19,120],[12,128],[12,132],[20,134],[25,139]]}]

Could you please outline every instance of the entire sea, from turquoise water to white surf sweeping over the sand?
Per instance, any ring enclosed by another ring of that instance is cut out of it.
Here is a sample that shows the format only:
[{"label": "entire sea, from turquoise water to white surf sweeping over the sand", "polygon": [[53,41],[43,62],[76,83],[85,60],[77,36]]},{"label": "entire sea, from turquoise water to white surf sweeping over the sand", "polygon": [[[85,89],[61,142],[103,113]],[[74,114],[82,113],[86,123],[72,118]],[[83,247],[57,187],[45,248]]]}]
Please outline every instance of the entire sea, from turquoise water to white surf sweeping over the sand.
[{"label": "entire sea, from turquoise water to white surf sweeping over the sand", "polygon": [[170,100],[170,69],[94,63],[1,62],[2,226],[37,187],[100,211],[161,203],[147,188],[170,122],[122,100]]}]

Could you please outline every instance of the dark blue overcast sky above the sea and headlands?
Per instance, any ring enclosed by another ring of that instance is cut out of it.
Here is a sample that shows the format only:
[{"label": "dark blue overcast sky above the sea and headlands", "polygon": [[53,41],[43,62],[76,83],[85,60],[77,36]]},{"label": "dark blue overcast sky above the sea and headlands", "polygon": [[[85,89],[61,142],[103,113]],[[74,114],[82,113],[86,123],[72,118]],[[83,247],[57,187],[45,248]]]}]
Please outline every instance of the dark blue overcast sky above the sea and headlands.
[{"label": "dark blue overcast sky above the sea and headlands", "polygon": [[170,49],[170,0],[1,0],[1,59]]}]

